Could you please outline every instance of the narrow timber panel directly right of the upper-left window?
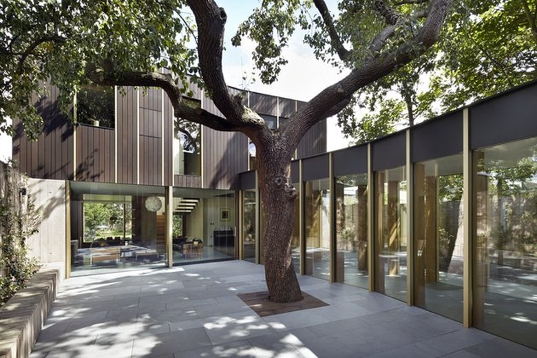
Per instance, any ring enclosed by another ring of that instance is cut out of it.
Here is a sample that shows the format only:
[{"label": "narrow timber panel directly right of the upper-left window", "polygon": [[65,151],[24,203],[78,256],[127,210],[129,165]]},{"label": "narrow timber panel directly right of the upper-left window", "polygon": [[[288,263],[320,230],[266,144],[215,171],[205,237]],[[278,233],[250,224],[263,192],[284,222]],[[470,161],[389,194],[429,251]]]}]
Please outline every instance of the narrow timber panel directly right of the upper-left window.
[{"label": "narrow timber panel directly right of the upper-left window", "polygon": [[138,91],[126,87],[125,96],[118,92],[117,123],[118,132],[118,182],[136,184],[138,173]]}]

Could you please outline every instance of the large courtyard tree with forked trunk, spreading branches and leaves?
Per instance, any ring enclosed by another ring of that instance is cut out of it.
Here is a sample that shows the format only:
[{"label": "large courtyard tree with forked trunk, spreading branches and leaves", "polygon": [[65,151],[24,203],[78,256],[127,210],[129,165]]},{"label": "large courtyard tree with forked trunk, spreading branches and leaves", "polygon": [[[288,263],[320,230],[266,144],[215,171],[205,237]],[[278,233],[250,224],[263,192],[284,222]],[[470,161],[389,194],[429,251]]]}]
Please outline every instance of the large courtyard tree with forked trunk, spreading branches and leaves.
[{"label": "large courtyard tree with forked trunk, spreading branches and leaves", "polygon": [[[404,2],[404,1],[403,1]],[[28,129],[38,123],[28,103],[39,80],[51,78],[62,101],[87,79],[98,85],[161,87],[174,116],[220,131],[240,131],[255,144],[257,174],[264,207],[266,283],[274,302],[302,299],[291,262],[293,202],[291,157],[315,123],[337,114],[360,88],[421,56],[439,36],[451,0],[341,1],[341,21],[324,0],[314,0],[319,15],[310,19],[311,1],[263,1],[242,23],[233,43],[249,36],[257,46],[253,59],[265,83],[277,78],[286,62],[282,48],[296,26],[309,29],[306,41],[323,59],[352,70],[323,89],[276,131],[233,96],[222,73],[227,14],[211,0],[108,0],[92,6],[76,0],[50,3],[3,0],[0,13],[3,51],[2,118],[24,107]],[[187,9],[189,8],[189,10]],[[193,19],[185,14],[191,11]],[[341,27],[341,23],[352,26]],[[328,36],[324,36],[328,34]],[[189,41],[196,48],[189,48]],[[172,74],[156,72],[169,67]],[[225,118],[183,100],[188,74],[199,81]]]}]

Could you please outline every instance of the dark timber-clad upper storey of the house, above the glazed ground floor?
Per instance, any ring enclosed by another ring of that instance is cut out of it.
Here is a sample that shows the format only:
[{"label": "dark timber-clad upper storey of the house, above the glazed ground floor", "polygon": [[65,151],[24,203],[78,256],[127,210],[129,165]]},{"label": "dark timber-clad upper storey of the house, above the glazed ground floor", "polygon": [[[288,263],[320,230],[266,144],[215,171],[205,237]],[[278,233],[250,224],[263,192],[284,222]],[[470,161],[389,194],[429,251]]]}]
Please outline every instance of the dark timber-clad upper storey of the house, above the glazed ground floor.
[{"label": "dark timber-clad upper storey of the house, above the glazed ground floor", "polygon": [[[191,84],[191,101],[222,116],[211,99]],[[230,87],[271,129],[304,102]],[[255,146],[238,132],[215,131],[175,120],[160,88],[83,87],[69,120],[56,103],[58,89],[35,100],[43,117],[38,140],[25,136],[15,120],[13,159],[31,178],[229,189],[238,173],[255,169]],[[326,152],[326,120],[302,139],[295,158]]]}]

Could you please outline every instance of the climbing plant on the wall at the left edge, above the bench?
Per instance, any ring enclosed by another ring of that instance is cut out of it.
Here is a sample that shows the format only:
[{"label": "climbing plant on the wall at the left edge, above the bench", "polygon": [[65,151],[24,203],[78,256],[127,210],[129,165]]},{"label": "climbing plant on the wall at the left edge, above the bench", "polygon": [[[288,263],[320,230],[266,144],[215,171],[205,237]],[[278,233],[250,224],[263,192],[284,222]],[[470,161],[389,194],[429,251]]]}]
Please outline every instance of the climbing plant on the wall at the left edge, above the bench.
[{"label": "climbing plant on the wall at the left edge, above the bench", "polygon": [[25,178],[6,166],[0,178],[0,306],[25,287],[37,271],[36,259],[28,257],[26,240],[37,232],[40,215],[32,198],[23,195]]}]

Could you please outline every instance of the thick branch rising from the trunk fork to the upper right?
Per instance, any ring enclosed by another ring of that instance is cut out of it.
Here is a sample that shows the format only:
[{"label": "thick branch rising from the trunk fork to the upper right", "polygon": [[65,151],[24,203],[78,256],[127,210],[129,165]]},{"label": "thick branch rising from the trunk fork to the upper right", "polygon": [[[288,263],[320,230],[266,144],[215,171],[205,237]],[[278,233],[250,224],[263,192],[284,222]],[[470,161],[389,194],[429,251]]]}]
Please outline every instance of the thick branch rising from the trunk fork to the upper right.
[{"label": "thick branch rising from the trunk fork to the upper right", "polygon": [[358,89],[390,74],[397,67],[406,65],[430,48],[438,39],[451,3],[452,0],[434,0],[425,23],[414,39],[409,39],[393,52],[369,59],[341,81],[326,87],[313,97],[289,121],[285,131],[289,142],[298,143],[310,127],[333,114],[339,103],[350,101],[352,94]]}]

